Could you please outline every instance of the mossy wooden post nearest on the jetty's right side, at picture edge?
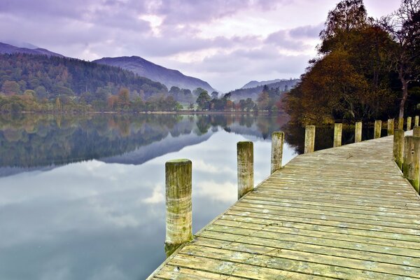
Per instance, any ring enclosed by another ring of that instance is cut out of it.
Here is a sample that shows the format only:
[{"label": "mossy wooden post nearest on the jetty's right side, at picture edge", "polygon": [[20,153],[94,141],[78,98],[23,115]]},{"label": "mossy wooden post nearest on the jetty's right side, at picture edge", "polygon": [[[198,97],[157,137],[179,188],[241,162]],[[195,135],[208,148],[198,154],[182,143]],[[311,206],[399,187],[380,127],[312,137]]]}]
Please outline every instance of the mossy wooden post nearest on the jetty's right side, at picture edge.
[{"label": "mossy wooden post nearest on the jetty's right side, at picture edge", "polygon": [[419,193],[420,137],[406,136],[404,139],[404,162],[402,172]]}]

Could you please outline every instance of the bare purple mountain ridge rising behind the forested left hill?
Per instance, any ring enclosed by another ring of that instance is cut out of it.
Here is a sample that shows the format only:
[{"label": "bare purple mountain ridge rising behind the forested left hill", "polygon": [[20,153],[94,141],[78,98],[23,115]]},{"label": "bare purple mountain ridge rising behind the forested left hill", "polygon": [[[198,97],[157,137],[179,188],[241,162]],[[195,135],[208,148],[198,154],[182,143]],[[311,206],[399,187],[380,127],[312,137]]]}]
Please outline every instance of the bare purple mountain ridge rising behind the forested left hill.
[{"label": "bare purple mountain ridge rising behind the forested left hill", "polygon": [[209,83],[199,78],[185,76],[178,70],[167,69],[142,57],[104,57],[94,60],[98,64],[106,64],[110,66],[118,66],[122,69],[127,69],[137,73],[139,76],[144,76],[162,83],[170,89],[172,86],[195,90],[197,87],[202,87],[209,93],[215,91]]}]

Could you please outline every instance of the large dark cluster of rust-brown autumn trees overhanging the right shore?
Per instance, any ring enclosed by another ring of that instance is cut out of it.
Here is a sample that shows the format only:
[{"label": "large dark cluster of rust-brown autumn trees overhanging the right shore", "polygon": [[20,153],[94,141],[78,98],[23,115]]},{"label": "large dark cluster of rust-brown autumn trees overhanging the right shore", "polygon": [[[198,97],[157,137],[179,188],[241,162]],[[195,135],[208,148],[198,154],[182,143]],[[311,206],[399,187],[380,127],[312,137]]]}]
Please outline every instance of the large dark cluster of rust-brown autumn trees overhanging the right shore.
[{"label": "large dark cluster of rust-brown autumn trees overhanging the right shore", "polygon": [[295,123],[402,118],[420,102],[420,1],[402,0],[373,20],[363,0],[340,1],[328,13],[318,56],[286,94]]}]

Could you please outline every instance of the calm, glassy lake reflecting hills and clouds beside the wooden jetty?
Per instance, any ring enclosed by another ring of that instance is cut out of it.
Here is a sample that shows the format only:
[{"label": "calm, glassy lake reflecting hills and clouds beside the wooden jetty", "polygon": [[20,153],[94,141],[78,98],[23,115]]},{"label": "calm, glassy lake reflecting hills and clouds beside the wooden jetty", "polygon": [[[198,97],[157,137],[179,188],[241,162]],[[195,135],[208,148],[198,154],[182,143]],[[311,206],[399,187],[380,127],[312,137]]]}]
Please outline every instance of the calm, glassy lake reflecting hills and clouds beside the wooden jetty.
[{"label": "calm, glassy lake reflecting hills and clouds beside the wooden jetty", "polygon": [[304,130],[281,116],[0,116],[0,279],[145,279],[165,260],[165,162],[193,162],[197,232],[237,200],[237,141],[257,184],[278,130],[285,164]]}]

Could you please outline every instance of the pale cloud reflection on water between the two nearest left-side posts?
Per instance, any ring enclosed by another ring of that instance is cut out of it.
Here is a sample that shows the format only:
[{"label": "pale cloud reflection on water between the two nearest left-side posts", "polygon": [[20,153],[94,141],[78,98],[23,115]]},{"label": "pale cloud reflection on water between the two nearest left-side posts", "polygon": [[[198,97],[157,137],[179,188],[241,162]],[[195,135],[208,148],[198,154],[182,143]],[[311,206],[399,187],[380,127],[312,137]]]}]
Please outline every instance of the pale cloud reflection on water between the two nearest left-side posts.
[{"label": "pale cloud reflection on water between the two nearest left-side posts", "polygon": [[214,181],[200,182],[193,190],[200,197],[208,197],[220,202],[233,202],[237,196],[237,186],[232,182],[215,183]]}]

